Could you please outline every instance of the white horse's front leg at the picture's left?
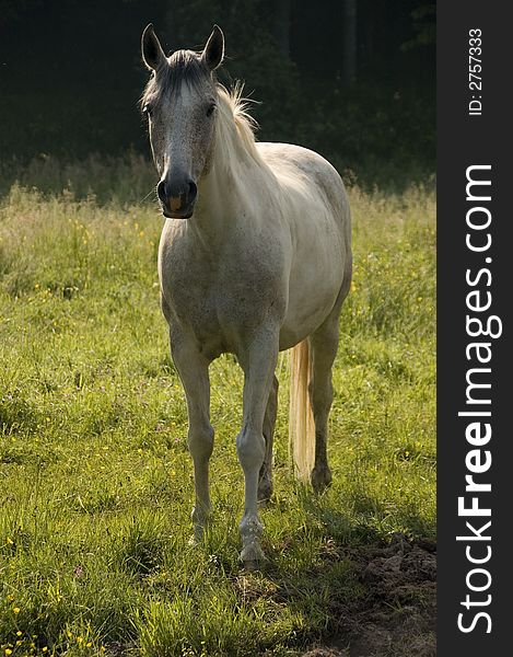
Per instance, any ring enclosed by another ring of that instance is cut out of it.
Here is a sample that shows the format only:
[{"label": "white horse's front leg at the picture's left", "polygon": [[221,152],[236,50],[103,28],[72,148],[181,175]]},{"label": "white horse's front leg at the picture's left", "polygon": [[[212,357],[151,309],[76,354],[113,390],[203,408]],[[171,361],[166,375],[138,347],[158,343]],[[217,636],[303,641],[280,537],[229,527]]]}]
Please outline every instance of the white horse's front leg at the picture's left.
[{"label": "white horse's front leg at the picture's left", "polygon": [[213,449],[213,428],[210,424],[210,361],[194,341],[171,338],[173,361],[187,399],[189,419],[188,446],[194,463],[196,499],[193,509],[194,540],[200,541],[211,514],[209,461]]}]

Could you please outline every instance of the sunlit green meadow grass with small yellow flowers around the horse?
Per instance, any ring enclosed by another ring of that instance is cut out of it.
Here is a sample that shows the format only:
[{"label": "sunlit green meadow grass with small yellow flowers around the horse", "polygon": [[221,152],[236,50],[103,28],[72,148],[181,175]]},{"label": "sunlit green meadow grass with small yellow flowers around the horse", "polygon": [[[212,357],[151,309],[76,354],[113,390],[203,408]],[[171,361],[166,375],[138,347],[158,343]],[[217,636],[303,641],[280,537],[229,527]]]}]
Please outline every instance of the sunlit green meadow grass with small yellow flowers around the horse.
[{"label": "sunlit green meadow grass with small yellow flowers around the horse", "polygon": [[293,480],[283,357],[269,558],[249,574],[237,562],[242,377],[230,356],[212,366],[213,523],[188,544],[162,221],[139,186],[77,200],[14,185],[0,199],[0,655],[295,655],[333,631],[337,606],[365,597],[345,546],[434,537],[434,194],[350,191],[334,484],[314,497]]}]

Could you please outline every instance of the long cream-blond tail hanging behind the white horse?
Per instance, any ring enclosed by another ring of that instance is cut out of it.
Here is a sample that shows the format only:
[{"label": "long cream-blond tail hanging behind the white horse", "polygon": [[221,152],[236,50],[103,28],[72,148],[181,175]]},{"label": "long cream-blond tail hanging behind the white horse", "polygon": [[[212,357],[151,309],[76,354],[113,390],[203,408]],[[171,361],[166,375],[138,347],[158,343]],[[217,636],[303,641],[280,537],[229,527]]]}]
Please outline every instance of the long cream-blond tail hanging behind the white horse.
[{"label": "long cream-blond tail hanging behind the white horse", "polygon": [[315,425],[308,399],[312,360],[308,341],[304,339],[290,353],[289,449],[295,476],[308,481],[315,462]]}]

